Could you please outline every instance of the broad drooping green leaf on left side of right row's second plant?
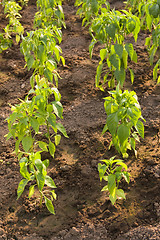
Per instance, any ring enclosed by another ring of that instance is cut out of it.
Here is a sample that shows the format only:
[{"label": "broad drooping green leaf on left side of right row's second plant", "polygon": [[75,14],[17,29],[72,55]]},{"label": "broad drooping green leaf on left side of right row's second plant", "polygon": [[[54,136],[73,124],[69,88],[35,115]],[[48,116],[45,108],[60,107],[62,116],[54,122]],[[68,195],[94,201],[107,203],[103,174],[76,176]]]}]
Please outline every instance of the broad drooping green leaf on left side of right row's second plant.
[{"label": "broad drooping green leaf on left side of right row's second plant", "polygon": [[115,135],[118,126],[118,113],[112,113],[107,117],[107,125],[112,136]]}]

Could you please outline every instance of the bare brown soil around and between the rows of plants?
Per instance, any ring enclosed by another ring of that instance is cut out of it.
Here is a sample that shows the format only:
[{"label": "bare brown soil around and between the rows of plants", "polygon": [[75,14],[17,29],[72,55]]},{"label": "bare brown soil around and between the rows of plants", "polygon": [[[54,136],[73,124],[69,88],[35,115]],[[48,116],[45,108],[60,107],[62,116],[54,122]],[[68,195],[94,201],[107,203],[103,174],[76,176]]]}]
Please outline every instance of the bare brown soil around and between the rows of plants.
[{"label": "bare brown soil around and between the rows of plants", "polygon": [[[134,84],[127,74],[125,88],[135,90],[142,107],[145,138],[137,144],[138,158],[133,153],[127,160],[131,173],[129,185],[122,183],[126,200],[112,206],[102,193],[97,164],[102,158],[116,155],[108,150],[110,134],[101,136],[105,124],[103,93],[94,86],[99,60],[96,46],[90,60],[88,30],[76,16],[74,1],[65,1],[67,28],[61,44],[66,66],[59,66],[62,79],[59,90],[64,106],[62,121],[69,139],[62,138],[56,156],[51,160],[49,175],[57,185],[56,215],[45,206],[41,209],[35,199],[28,200],[27,190],[16,200],[21,179],[17,158],[13,155],[14,141],[6,142],[5,119],[9,104],[18,103],[28,92],[30,72],[24,66],[19,46],[0,55],[0,239],[56,240],[56,239],[160,239],[160,86],[152,80],[152,70],[144,42],[147,33],[141,32],[135,45],[138,64],[131,64],[135,72]],[[122,7],[122,2],[113,6]],[[32,27],[35,4],[23,11],[22,23],[28,31]],[[0,15],[0,28],[6,20]],[[132,39],[130,39],[132,40]],[[132,40],[133,41],[133,40]]]}]

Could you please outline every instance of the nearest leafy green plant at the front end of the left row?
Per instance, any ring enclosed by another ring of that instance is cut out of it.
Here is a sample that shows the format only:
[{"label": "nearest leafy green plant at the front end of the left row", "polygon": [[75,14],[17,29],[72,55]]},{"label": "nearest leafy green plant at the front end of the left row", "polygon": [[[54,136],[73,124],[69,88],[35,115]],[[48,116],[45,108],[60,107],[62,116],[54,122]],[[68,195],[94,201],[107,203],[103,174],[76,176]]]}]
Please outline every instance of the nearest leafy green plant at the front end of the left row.
[{"label": "nearest leafy green plant at the front end of the left row", "polygon": [[[22,157],[19,161],[20,163],[20,173],[23,179],[20,181],[17,189],[17,199],[22,195],[26,185],[29,182],[33,182],[34,185],[31,185],[29,188],[28,197],[31,198],[35,191],[35,186],[38,186],[40,191],[41,199],[44,198],[45,204],[48,210],[54,214],[54,207],[52,204],[53,198],[55,199],[55,188],[56,185],[53,179],[47,175],[47,167],[45,161],[41,160],[41,151],[36,153],[29,153],[28,157]],[[49,160],[48,160],[49,161]],[[35,183],[36,181],[36,183]],[[43,188],[46,188],[43,191]],[[53,195],[54,192],[54,195]],[[54,197],[53,197],[54,196]],[[48,198],[49,199],[48,199]],[[47,199],[47,201],[46,201]]]}]

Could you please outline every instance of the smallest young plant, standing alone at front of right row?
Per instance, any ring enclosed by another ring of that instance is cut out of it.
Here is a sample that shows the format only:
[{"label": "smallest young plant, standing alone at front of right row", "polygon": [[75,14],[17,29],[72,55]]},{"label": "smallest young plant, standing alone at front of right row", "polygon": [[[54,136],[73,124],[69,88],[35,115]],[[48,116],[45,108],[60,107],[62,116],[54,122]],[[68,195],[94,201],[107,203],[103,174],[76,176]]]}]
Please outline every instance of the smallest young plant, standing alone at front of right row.
[{"label": "smallest young plant, standing alone at front of right row", "polygon": [[101,160],[104,164],[98,164],[100,181],[105,180],[107,185],[101,191],[109,192],[109,199],[114,205],[117,199],[126,199],[123,189],[119,188],[119,183],[124,180],[129,184],[130,174],[127,172],[127,165],[115,156],[109,160]]}]

